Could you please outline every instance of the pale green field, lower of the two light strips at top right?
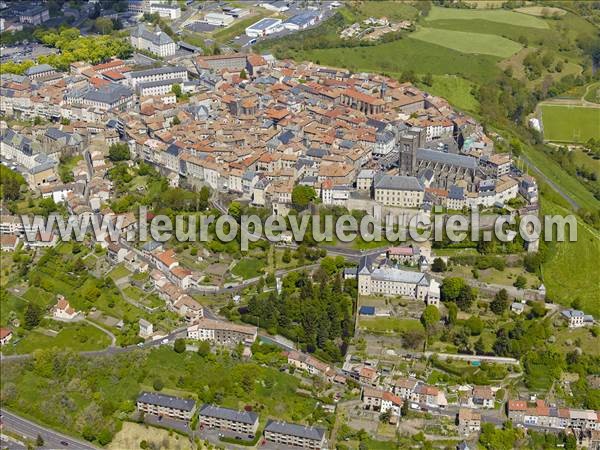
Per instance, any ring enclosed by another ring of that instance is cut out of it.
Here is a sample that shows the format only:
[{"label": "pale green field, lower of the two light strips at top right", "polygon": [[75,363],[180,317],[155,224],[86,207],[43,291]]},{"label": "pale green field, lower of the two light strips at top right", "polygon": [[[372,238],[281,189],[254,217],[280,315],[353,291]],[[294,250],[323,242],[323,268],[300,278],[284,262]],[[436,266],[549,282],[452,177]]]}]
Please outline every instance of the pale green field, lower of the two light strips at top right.
[{"label": "pale green field, lower of the two light strips at top right", "polygon": [[469,33],[439,28],[419,28],[411,39],[437,44],[462,53],[491,55],[508,58],[519,50],[521,44],[494,34]]}]

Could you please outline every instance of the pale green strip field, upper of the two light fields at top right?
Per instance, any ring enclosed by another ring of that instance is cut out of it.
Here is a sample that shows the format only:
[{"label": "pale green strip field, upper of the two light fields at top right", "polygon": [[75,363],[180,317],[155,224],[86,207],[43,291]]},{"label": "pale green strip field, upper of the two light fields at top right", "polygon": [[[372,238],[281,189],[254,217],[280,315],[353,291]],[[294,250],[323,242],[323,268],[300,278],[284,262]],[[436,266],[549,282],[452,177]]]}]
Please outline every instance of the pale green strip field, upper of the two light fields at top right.
[{"label": "pale green strip field, upper of the two light fields at top right", "polygon": [[427,21],[455,19],[455,20],[489,20],[490,22],[499,22],[508,25],[517,25],[529,28],[548,28],[548,24],[537,17],[526,14],[519,14],[506,10],[481,10],[481,9],[457,9],[441,8],[434,6],[431,8]]}]

